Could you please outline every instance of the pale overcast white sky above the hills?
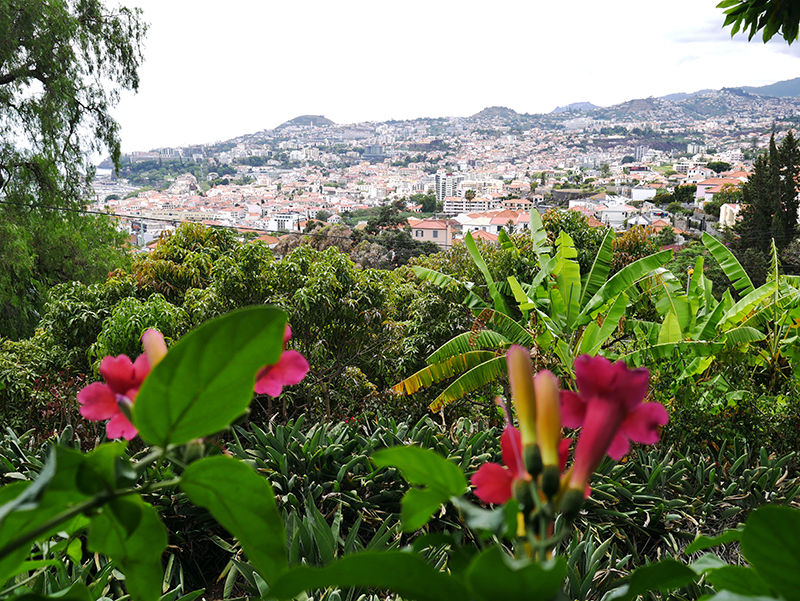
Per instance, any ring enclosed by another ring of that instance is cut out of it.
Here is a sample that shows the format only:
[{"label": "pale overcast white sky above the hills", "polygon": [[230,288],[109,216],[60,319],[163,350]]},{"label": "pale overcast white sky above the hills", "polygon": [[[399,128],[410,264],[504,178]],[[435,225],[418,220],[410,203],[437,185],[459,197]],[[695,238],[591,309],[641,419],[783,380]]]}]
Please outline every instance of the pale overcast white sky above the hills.
[{"label": "pale overcast white sky above the hills", "polygon": [[546,113],[800,76],[800,42],[722,29],[717,0],[124,0],[150,29],[124,152],[336,123]]}]

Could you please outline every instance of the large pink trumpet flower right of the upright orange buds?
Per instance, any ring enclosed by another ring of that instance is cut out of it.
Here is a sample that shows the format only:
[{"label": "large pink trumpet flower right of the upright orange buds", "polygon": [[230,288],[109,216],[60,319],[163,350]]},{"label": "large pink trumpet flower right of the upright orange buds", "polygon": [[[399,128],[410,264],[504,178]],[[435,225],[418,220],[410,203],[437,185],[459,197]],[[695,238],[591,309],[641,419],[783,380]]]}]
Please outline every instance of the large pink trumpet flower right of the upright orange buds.
[{"label": "large pink trumpet flower right of the upright orange buds", "polygon": [[580,393],[561,391],[561,415],[564,426],[583,426],[569,482],[569,488],[583,491],[606,453],[619,460],[631,440],[658,442],[669,415],[660,403],[642,402],[650,382],[646,368],[582,355],[575,360],[575,379]]}]

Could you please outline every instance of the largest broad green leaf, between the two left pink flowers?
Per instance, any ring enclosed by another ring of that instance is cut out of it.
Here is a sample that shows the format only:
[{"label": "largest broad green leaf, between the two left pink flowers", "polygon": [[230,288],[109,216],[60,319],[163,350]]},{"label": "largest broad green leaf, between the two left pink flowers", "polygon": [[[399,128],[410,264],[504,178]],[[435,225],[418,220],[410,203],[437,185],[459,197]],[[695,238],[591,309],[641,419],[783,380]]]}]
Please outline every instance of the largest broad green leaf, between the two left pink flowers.
[{"label": "largest broad green leaf, between the two left pink flowers", "polygon": [[133,423],[141,437],[166,447],[228,426],[250,403],[258,370],[280,358],[285,325],[283,311],[250,307],[181,338],[136,397]]}]

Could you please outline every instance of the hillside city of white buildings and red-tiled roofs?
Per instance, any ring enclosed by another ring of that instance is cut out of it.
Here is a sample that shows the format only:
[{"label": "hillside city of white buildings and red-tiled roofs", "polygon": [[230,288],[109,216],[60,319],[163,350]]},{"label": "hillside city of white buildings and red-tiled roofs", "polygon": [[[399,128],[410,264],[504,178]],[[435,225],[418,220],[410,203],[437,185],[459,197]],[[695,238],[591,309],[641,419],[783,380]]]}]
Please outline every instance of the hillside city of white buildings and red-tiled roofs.
[{"label": "hillside city of white buildings and red-tiled roofs", "polygon": [[[119,216],[143,249],[183,221],[274,246],[315,220],[364,227],[359,214],[398,201],[414,214],[414,239],[442,248],[466,232],[492,241],[523,230],[532,207],[617,230],[670,228],[680,243],[733,225],[739,205],[723,201],[773,132],[780,140],[798,123],[800,98],[730,89],[542,115],[492,107],[347,125],[305,115],[226,142],[125,154],[117,174],[107,161],[92,208]],[[687,185],[682,210],[657,202]]]}]

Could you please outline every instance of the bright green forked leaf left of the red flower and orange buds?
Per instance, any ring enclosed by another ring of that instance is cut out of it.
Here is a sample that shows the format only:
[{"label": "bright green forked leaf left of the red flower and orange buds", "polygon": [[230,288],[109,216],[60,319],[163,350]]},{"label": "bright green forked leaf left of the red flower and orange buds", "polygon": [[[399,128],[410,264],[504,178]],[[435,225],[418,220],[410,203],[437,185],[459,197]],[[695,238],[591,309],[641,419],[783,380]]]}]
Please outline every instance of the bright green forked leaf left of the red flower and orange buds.
[{"label": "bright green forked leaf left of the red flower and orange buds", "polygon": [[399,468],[412,488],[403,497],[403,530],[411,532],[424,526],[442,503],[467,490],[467,479],[455,464],[441,455],[420,447],[398,446],[372,455],[378,467]]}]

